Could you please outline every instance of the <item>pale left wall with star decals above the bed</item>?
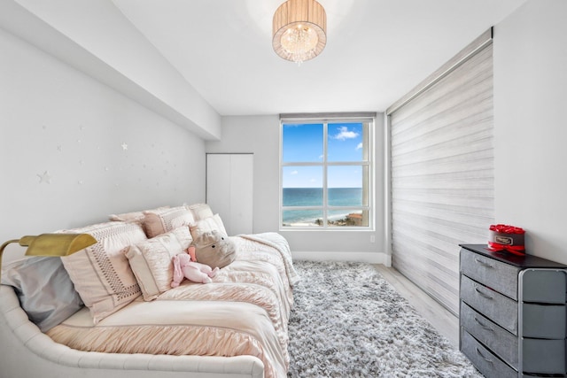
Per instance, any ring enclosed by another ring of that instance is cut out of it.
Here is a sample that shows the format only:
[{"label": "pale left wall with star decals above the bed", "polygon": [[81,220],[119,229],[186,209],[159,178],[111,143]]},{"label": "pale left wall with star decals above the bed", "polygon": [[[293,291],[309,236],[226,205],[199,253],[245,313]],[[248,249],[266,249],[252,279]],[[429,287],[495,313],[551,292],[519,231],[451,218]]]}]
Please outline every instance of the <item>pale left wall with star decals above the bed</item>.
[{"label": "pale left wall with star decals above the bed", "polygon": [[205,199],[202,139],[1,28],[0,51],[0,241]]}]

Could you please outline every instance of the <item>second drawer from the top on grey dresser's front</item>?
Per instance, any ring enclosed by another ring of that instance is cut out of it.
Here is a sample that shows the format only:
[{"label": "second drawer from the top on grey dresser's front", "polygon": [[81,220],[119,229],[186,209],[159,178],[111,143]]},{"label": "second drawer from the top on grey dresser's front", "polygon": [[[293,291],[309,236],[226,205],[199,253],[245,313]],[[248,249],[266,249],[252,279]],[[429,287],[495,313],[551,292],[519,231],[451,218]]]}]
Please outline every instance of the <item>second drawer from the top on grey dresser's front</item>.
[{"label": "second drawer from the top on grey dresser's front", "polygon": [[461,274],[461,299],[494,323],[517,335],[517,302]]}]

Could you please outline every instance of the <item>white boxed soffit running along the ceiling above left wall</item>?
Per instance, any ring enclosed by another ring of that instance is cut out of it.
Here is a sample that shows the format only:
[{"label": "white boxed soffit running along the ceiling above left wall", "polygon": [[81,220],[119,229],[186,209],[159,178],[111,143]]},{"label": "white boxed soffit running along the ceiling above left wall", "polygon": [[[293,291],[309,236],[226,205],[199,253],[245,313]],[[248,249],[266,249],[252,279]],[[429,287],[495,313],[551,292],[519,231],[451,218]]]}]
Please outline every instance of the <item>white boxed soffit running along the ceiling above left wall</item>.
[{"label": "white boxed soffit running along the ceiling above left wall", "polygon": [[0,27],[204,139],[221,116],[112,0],[3,0]]}]

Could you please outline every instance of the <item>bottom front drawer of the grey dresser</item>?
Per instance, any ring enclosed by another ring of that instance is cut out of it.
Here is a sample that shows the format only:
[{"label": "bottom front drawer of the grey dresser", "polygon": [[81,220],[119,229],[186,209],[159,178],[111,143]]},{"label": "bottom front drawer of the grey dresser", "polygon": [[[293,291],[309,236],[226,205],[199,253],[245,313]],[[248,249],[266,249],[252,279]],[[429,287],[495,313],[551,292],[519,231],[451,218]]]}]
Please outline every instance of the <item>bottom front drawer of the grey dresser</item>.
[{"label": "bottom front drawer of the grey dresser", "polygon": [[517,378],[517,371],[461,328],[461,351],[486,378]]}]

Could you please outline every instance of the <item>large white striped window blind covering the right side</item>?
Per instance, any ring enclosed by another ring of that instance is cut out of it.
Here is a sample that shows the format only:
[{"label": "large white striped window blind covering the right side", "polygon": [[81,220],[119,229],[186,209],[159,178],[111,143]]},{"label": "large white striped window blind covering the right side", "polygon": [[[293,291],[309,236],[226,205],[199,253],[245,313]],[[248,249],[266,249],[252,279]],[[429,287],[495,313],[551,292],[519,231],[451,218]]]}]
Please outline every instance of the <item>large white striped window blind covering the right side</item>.
[{"label": "large white striped window blind covering the right side", "polygon": [[392,265],[459,312],[459,243],[493,222],[492,30],[386,112]]}]

